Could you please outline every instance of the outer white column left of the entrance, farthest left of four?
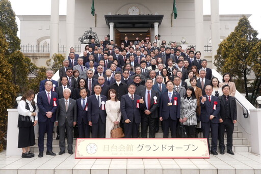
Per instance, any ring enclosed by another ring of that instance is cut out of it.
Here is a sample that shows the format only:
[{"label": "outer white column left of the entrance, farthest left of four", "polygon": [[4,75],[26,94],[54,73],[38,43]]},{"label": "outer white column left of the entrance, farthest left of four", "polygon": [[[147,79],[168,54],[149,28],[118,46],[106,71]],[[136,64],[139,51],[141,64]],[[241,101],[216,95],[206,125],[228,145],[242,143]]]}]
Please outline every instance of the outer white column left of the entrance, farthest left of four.
[{"label": "outer white column left of the entrance, farthest left of four", "polygon": [[59,0],[51,1],[50,18],[50,58],[54,53],[58,53],[59,43]]}]

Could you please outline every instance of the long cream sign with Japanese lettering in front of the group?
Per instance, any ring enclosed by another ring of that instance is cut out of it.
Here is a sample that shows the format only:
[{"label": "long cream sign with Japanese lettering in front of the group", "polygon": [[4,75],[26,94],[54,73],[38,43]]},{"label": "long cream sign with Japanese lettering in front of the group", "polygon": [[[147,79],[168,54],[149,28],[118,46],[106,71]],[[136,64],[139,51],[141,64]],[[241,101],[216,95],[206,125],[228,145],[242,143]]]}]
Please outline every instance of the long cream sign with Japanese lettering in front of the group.
[{"label": "long cream sign with Japanese lettering in front of the group", "polygon": [[206,138],[77,138],[75,158],[210,158]]}]

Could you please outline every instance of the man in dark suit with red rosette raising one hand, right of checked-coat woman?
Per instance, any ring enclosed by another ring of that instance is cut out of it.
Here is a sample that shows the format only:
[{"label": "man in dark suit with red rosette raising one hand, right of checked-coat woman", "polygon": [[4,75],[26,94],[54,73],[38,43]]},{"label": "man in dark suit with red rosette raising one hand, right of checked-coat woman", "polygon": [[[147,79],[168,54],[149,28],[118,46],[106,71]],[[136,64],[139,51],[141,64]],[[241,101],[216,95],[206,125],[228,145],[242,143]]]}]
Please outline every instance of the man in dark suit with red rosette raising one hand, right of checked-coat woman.
[{"label": "man in dark suit with red rosette raising one hand, right of checked-coat woman", "polygon": [[[212,85],[208,84],[205,86],[205,95],[200,97],[201,114],[200,121],[203,132],[203,137],[207,138],[208,150],[213,155],[217,153],[218,143],[218,123],[219,123],[219,111],[220,101],[217,97],[212,95]],[[210,142],[208,140],[211,129],[211,149]]]}]

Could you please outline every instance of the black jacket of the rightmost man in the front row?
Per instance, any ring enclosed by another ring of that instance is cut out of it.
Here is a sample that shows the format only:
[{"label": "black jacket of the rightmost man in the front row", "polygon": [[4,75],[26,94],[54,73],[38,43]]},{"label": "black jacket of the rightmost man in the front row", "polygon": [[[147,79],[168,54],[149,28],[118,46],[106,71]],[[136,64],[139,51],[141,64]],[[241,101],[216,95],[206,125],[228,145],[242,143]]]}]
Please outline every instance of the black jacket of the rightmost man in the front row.
[{"label": "black jacket of the rightmost man in the front row", "polygon": [[[224,95],[218,97],[220,100],[220,112],[219,112],[219,118],[224,121],[226,119],[226,97]],[[236,99],[232,96],[228,96],[228,102],[230,107],[230,117],[231,121],[237,120],[237,103]]]}]

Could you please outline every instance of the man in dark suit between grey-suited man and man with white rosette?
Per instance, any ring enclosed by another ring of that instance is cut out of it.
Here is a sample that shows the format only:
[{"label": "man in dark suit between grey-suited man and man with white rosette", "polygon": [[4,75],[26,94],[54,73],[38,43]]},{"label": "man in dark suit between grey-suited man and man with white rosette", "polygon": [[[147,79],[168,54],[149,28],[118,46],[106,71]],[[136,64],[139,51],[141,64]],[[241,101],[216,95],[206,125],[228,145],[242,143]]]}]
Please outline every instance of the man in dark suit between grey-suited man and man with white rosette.
[{"label": "man in dark suit between grey-suited man and man with white rosette", "polygon": [[88,122],[87,89],[80,89],[81,98],[76,100],[78,107],[77,125],[79,138],[90,138],[90,126]]}]

